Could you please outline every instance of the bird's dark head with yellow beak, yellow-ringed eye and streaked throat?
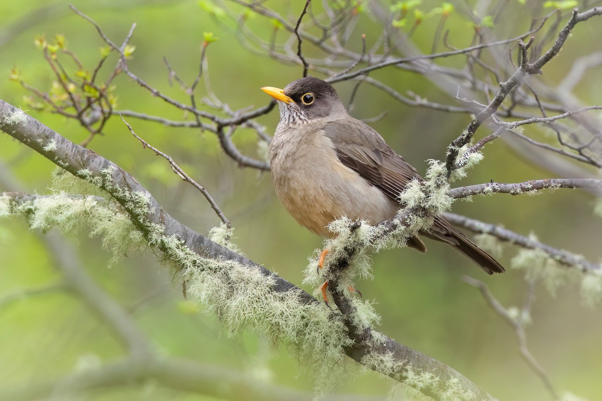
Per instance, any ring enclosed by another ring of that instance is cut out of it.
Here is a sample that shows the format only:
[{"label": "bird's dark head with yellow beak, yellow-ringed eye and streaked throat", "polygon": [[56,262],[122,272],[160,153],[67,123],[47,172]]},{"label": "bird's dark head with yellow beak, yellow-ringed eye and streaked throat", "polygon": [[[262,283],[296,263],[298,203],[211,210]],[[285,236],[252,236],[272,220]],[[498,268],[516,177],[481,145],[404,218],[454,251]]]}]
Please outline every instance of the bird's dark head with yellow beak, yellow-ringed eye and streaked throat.
[{"label": "bird's dark head with yellow beak, yellow-ringed eye and streaked throat", "polygon": [[261,90],[279,101],[281,123],[305,123],[333,117],[341,111],[347,114],[335,88],[311,76],[297,79],[284,89],[263,87]]}]

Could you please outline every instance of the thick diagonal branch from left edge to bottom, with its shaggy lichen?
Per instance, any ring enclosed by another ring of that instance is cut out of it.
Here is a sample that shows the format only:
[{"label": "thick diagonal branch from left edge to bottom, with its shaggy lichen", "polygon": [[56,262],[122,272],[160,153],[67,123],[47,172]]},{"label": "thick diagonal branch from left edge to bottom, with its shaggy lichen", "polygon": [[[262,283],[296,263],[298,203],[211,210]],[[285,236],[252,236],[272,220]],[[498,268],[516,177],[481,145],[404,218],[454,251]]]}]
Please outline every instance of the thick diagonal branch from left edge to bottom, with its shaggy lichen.
[{"label": "thick diagonal branch from left edge to bottom, with its shaggy lichen", "polygon": [[[232,329],[250,327],[270,332],[293,341],[304,352],[332,363],[347,355],[409,385],[413,385],[408,380],[414,377],[412,375],[423,375],[431,379],[428,385],[418,390],[435,399],[445,399],[445,394],[450,394],[450,391],[462,396],[459,399],[492,399],[445,364],[402,346],[369,327],[350,331],[350,325],[357,325],[357,321],[343,322],[340,315],[316,302],[308,293],[185,227],[164,212],[152,195],[119,166],[73,144],[2,100],[0,129],[74,176],[98,187],[111,197],[110,202],[114,202],[111,206],[80,197],[77,208],[61,207],[60,210],[75,213],[71,218],[76,218],[77,212],[89,216],[96,212],[97,207],[112,207],[111,212],[124,213],[128,216],[128,224],[141,233],[146,245],[162,251],[166,259],[184,274],[188,280],[189,295],[199,301],[215,302],[213,307],[220,308],[220,314]],[[65,194],[56,196],[60,202],[69,201]],[[4,194],[0,200],[0,212],[4,214],[14,212],[35,217],[40,212],[42,215],[34,218],[38,224],[60,223],[61,216],[54,213],[52,203],[42,207],[33,201],[19,206],[15,204],[18,197],[10,194]],[[227,287],[222,287],[226,284]],[[325,365],[324,369],[329,368]],[[323,373],[326,378],[326,371]]]}]

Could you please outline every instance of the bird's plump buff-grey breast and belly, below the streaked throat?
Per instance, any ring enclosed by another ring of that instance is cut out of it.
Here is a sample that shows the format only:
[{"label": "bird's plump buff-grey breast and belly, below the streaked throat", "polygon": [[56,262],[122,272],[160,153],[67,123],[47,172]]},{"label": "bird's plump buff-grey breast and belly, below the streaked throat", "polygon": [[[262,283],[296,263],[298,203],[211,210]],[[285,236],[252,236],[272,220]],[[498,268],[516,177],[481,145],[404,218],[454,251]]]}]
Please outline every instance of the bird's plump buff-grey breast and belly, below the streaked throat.
[{"label": "bird's plump buff-grey breast and belly, below the streaked throat", "polygon": [[289,213],[312,232],[329,237],[326,225],[347,216],[376,224],[391,218],[399,204],[343,165],[319,130],[276,132],[270,165],[276,194]]}]

